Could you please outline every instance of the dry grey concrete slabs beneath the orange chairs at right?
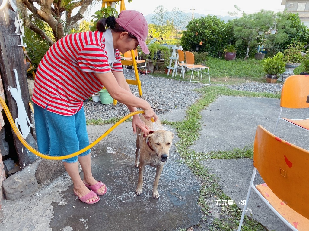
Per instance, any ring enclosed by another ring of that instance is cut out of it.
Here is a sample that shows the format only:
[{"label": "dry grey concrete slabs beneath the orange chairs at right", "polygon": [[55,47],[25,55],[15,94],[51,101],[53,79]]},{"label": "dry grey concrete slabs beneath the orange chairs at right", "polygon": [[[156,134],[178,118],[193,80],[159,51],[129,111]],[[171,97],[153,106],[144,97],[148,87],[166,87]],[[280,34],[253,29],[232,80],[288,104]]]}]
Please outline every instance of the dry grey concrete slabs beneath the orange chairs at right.
[{"label": "dry grey concrete slabs beneath the orange chairs at right", "polygon": [[[280,99],[222,96],[202,111],[200,139],[191,148],[196,152],[228,151],[252,145],[257,125],[273,132],[280,108]],[[308,109],[284,109],[287,118],[306,118]],[[303,116],[303,117],[302,117]],[[307,149],[308,133],[288,123],[279,121],[276,135],[284,140]],[[207,160],[203,162],[210,173],[218,176],[222,191],[233,201],[246,199],[252,176],[251,159]],[[260,176],[256,184],[264,183]],[[239,206],[243,208],[242,205]],[[290,230],[265,203],[251,193],[248,208],[252,217],[269,230]]]}]

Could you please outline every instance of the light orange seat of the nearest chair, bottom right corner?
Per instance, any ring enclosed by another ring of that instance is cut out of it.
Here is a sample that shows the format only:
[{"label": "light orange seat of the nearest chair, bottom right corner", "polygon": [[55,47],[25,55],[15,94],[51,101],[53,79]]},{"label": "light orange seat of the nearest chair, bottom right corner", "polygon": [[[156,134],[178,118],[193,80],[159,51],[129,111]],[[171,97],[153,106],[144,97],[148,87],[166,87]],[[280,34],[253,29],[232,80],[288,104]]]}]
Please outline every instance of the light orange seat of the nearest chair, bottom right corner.
[{"label": "light orange seat of the nearest chair, bottom right corner", "polygon": [[[309,227],[309,220],[303,217],[299,213],[295,212],[283,201],[281,201],[273,191],[267,186],[267,184],[259,184],[255,186],[257,190],[263,195],[263,197],[286,219],[291,225],[293,225],[299,231],[307,231]],[[306,206],[306,204],[304,204]]]}]

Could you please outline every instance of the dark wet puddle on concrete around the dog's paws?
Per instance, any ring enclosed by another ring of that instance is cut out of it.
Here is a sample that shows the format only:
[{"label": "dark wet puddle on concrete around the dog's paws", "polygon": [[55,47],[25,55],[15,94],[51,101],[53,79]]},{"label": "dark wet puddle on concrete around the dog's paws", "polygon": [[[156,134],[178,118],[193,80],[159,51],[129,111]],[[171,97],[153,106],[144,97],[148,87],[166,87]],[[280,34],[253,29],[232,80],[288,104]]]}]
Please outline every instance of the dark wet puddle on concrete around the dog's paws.
[{"label": "dark wet puddle on concrete around the dog's paws", "polygon": [[[135,195],[138,168],[134,167],[135,147],[99,143],[92,149],[92,173],[108,191],[93,205],[76,199],[73,186],[62,192],[65,205],[53,202],[53,231],[62,230],[179,230],[201,220],[197,205],[200,184],[178,154],[170,150],[159,180],[159,200],[152,198],[155,170],[146,166],[143,193]],[[71,229],[71,228],[72,229]]]}]

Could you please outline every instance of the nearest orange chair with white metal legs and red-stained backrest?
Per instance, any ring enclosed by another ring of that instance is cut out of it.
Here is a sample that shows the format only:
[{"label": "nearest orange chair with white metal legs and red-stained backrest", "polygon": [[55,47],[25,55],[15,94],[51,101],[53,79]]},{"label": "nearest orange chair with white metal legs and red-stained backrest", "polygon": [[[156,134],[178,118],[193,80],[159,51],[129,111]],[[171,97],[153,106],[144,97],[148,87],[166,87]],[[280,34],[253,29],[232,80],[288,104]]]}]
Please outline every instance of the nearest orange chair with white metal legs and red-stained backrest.
[{"label": "nearest orange chair with white metal legs and red-stained backrest", "polygon": [[[240,218],[240,231],[251,190],[292,230],[308,230],[309,152],[258,126],[254,140],[253,173]],[[265,184],[254,185],[256,170]]]}]

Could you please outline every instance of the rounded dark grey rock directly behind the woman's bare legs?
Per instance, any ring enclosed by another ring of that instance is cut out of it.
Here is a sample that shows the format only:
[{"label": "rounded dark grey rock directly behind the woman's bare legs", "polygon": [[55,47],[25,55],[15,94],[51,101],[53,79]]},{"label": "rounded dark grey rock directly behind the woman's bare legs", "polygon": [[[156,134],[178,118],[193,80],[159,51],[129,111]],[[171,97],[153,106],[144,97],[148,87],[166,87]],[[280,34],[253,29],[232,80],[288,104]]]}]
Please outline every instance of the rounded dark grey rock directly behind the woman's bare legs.
[{"label": "rounded dark grey rock directly behind the woman's bare legs", "polygon": [[36,180],[39,184],[50,184],[65,172],[62,160],[43,159],[36,169]]}]

